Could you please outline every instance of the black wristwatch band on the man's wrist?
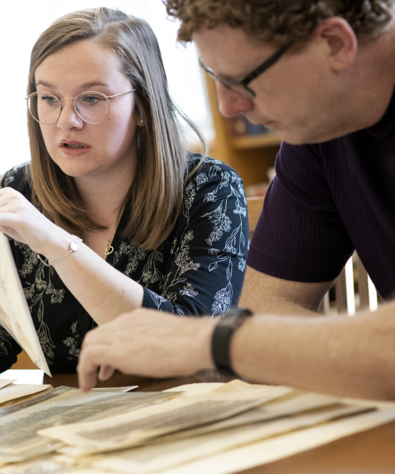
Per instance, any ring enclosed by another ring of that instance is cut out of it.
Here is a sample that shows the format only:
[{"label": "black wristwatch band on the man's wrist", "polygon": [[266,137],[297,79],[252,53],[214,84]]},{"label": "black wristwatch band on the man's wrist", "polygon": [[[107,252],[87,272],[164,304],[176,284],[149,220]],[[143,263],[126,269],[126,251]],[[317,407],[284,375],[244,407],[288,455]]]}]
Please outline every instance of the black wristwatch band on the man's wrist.
[{"label": "black wristwatch band on the man's wrist", "polygon": [[246,308],[231,308],[216,325],[211,340],[211,355],[217,370],[229,375],[236,375],[231,368],[229,344],[234,331],[242,325],[252,312]]}]

